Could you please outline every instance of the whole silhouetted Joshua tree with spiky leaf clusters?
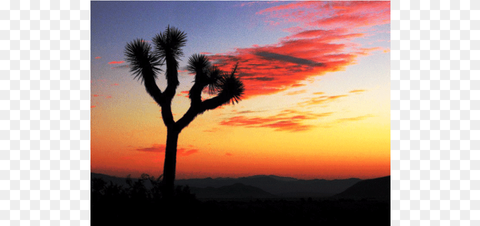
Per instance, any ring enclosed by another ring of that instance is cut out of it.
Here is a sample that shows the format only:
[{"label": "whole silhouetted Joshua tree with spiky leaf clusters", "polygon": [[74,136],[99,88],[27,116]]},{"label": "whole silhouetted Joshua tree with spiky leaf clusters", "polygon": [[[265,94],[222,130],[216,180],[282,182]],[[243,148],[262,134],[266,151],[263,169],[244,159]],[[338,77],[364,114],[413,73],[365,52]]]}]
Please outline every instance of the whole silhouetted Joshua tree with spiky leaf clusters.
[{"label": "whole silhouetted Joshua tree with spiky leaf clusters", "polygon": [[[237,65],[230,73],[225,73],[212,66],[205,55],[194,54],[188,59],[187,65],[188,71],[195,74],[189,90],[190,107],[180,119],[174,121],[171,100],[178,86],[178,60],[183,56],[181,47],[185,42],[186,34],[183,31],[168,26],[163,33],[152,38],[153,48],[143,39],[133,40],[125,46],[126,61],[130,63],[131,72],[143,82],[146,92],[161,107],[161,118],[167,131],[162,180],[166,197],[173,194],[178,134],[205,110],[230,102],[238,103],[244,91],[243,83],[235,76]],[[163,92],[155,83],[162,65],[166,66],[167,81]],[[214,97],[202,100],[204,89]]]}]

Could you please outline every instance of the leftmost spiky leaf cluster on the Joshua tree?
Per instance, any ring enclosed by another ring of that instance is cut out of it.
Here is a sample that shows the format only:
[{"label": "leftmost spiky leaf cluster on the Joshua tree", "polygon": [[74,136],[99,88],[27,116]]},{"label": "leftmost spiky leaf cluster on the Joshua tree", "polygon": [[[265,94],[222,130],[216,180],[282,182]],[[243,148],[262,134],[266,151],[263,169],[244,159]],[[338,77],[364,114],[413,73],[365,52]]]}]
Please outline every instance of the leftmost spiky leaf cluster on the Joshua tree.
[{"label": "leftmost spiky leaf cluster on the Joshua tree", "polygon": [[130,63],[130,72],[134,78],[145,80],[155,79],[156,73],[161,71],[160,57],[150,50],[150,44],[143,39],[136,39],[125,46],[126,61]]}]

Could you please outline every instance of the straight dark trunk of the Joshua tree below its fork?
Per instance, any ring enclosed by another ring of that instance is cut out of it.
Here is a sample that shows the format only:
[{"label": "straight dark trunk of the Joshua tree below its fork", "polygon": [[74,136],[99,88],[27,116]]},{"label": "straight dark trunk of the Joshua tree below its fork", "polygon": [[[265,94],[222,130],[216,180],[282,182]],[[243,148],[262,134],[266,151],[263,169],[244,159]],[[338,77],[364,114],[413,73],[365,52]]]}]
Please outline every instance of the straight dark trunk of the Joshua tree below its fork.
[{"label": "straight dark trunk of the Joshua tree below its fork", "polygon": [[163,164],[163,196],[167,199],[173,197],[176,165],[176,145],[179,132],[175,129],[166,130],[165,161]]}]

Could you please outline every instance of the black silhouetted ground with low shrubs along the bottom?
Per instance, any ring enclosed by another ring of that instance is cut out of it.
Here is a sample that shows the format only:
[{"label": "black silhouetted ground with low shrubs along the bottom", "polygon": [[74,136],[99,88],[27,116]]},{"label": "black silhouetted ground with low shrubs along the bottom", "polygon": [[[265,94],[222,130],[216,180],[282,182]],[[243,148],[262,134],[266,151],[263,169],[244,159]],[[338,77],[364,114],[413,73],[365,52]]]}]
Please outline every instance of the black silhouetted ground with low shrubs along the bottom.
[{"label": "black silhouetted ground with low shrubs along the bottom", "polygon": [[94,180],[91,189],[91,225],[326,223],[386,225],[390,200],[300,198],[203,200],[188,187],[177,187],[173,201],[161,197],[160,183],[145,189],[141,181],[128,188]]}]

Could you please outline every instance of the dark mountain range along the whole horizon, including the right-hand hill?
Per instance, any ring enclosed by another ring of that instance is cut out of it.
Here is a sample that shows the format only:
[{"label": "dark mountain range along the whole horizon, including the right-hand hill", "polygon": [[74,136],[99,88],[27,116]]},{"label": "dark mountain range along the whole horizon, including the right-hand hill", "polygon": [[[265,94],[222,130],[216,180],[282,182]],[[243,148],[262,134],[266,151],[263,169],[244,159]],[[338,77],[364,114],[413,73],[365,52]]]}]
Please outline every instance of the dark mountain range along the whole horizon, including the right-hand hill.
[{"label": "dark mountain range along the whole horizon, including the right-hand hill", "polygon": [[[92,178],[102,178],[126,187],[126,178],[91,172]],[[132,178],[135,182],[137,179]],[[197,198],[380,198],[389,199],[390,177],[361,180],[296,179],[276,175],[254,175],[239,178],[218,177],[178,179],[175,185],[188,185]],[[148,180],[146,188],[151,187]]]}]

